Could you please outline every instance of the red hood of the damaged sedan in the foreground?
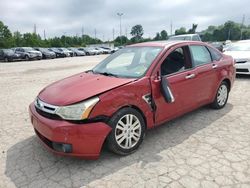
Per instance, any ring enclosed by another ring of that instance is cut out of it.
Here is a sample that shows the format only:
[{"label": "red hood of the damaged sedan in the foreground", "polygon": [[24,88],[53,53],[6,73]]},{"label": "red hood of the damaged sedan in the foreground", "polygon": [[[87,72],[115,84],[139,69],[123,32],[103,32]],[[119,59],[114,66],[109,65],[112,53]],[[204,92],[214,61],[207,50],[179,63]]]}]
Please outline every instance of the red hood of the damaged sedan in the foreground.
[{"label": "red hood of the damaged sedan in the foreground", "polygon": [[39,93],[38,97],[48,104],[65,106],[83,101],[134,80],[84,72],[47,86]]}]

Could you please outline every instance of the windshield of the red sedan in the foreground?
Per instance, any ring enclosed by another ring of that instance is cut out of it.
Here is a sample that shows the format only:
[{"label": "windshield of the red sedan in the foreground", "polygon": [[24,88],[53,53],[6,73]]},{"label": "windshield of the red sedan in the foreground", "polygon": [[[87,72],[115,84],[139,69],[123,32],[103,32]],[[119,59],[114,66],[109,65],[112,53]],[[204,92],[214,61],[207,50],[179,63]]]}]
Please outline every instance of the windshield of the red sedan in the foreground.
[{"label": "windshield of the red sedan in the foreground", "polygon": [[117,77],[139,78],[150,67],[162,47],[127,47],[110,55],[98,64],[94,73]]}]

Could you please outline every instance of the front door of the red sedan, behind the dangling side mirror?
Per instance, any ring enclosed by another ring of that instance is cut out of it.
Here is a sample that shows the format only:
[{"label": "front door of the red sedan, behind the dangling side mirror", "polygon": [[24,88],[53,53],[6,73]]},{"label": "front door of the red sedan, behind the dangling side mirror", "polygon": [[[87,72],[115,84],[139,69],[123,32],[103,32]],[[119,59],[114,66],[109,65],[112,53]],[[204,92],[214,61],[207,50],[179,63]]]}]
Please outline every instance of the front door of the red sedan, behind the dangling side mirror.
[{"label": "front door of the red sedan, behind the dangling side mirror", "polygon": [[[176,47],[166,55],[151,78],[152,96],[156,106],[156,125],[189,111],[195,104],[192,90],[195,70],[192,69],[189,48]],[[172,103],[165,101],[161,92],[160,79],[167,80],[174,98]]]}]

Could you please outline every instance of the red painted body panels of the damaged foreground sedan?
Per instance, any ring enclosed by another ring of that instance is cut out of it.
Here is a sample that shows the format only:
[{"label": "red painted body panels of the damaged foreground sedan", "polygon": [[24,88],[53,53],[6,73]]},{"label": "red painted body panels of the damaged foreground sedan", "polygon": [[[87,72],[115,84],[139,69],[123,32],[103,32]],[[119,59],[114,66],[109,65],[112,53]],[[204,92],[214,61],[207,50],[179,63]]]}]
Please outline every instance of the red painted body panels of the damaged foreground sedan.
[{"label": "red painted body panels of the damaged foreground sedan", "polygon": [[[58,81],[46,87],[39,94],[39,98],[52,105],[69,105],[99,96],[100,101],[92,109],[89,118],[100,115],[112,117],[119,109],[131,106],[138,109],[147,124],[153,128],[163,122],[171,120],[214,100],[220,83],[228,79],[233,85],[235,79],[234,62],[230,56],[223,55],[220,61],[192,68],[181,73],[173,74],[168,79],[175,97],[174,103],[166,103],[161,94],[160,80],[158,79],[160,65],[168,54],[183,45],[206,45],[202,42],[149,42],[133,46],[164,46],[154,60],[145,76],[140,79],[126,79],[103,76],[93,73],[80,73]],[[190,60],[191,61],[191,60]],[[213,65],[217,65],[213,69]],[[185,79],[189,74],[195,74],[193,79]],[[145,94],[151,93],[157,106],[154,112],[142,99]],[[30,116],[34,128],[44,137],[54,142],[73,145],[73,152],[61,155],[98,158],[102,145],[111,131],[105,123],[74,124],[64,120],[52,120],[39,115],[34,103],[30,105]]]}]

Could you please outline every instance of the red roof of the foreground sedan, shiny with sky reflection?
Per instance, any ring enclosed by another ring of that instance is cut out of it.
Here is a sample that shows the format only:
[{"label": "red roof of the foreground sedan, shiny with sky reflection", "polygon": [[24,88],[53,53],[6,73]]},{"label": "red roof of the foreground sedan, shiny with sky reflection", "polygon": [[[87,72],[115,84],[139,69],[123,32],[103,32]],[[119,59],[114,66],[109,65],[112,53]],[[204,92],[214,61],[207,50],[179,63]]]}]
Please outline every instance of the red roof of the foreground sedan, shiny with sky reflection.
[{"label": "red roof of the foreground sedan, shiny with sky reflection", "polygon": [[143,43],[137,43],[137,44],[132,44],[129,46],[140,46],[140,47],[170,47],[170,46],[175,46],[178,44],[183,44],[183,45],[190,45],[190,44],[199,44],[199,45],[206,45],[205,43],[201,41],[178,41],[178,40],[172,40],[172,41],[151,41],[151,42],[143,42]]}]

